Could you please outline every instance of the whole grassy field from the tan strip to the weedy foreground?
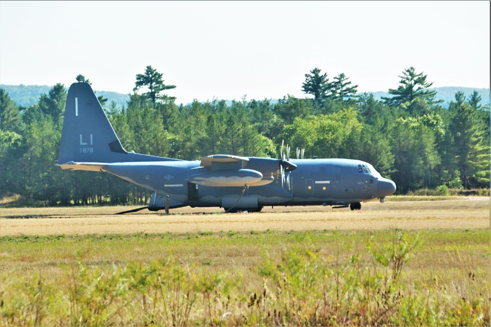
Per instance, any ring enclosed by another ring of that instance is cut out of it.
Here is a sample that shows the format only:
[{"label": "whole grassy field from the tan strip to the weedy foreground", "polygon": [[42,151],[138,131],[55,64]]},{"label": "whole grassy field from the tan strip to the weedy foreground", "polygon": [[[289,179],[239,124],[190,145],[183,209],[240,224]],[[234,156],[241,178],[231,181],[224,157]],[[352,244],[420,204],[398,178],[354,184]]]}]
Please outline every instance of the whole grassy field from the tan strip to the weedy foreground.
[{"label": "whole grassy field from the tan strip to the weedy foreground", "polygon": [[0,325],[490,325],[489,198],[127,209],[2,208]]}]

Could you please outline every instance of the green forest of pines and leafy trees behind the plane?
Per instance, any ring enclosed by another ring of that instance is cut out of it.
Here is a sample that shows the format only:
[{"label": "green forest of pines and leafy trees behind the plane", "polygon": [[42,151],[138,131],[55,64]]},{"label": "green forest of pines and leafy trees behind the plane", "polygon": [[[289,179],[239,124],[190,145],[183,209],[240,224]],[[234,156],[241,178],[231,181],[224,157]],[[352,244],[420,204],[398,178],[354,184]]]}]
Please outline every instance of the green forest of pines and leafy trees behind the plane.
[{"label": "green forest of pines and leafy trees behind the plane", "polygon": [[[474,91],[457,92],[445,107],[424,72],[405,69],[390,97],[357,95],[345,74],[329,80],[314,68],[299,81],[304,98],[193,101],[177,105],[163,74],[147,66],[136,75],[130,101],[118,108],[99,95],[125,150],[199,160],[210,154],[291,158],[350,158],[370,162],[397,185],[396,194],[421,189],[488,189],[490,105]],[[75,81],[90,81],[83,75]],[[97,95],[97,94],[96,94]],[[110,174],[62,171],[55,166],[67,91],[56,84],[39,102],[16,105],[0,89],[0,199],[25,204],[145,204],[149,191]]]}]

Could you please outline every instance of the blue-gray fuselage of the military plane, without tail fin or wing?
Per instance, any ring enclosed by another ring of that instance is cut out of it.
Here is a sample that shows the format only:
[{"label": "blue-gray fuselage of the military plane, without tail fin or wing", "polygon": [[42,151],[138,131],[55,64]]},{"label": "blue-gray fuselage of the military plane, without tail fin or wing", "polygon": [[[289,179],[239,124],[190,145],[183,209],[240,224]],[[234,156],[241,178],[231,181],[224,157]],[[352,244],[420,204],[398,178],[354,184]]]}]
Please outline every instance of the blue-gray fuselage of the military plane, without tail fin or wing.
[{"label": "blue-gray fuselage of the military plane, without tail fin or wing", "polygon": [[[250,163],[254,159],[249,158]],[[235,179],[241,186],[231,187],[206,186],[205,183],[186,181],[189,176],[206,171],[206,168],[200,167],[199,161],[113,163],[102,170],[160,195],[169,195],[172,199],[171,207],[190,205],[226,208],[230,203],[235,204],[241,196],[237,206],[243,209],[277,205],[344,205],[383,199],[395,191],[395,184],[391,180],[380,176],[370,164],[363,161],[290,161],[297,165],[294,171],[284,173],[284,178],[273,176],[273,181],[266,185],[247,187],[244,194],[248,180],[244,178],[241,182],[241,176]],[[230,170],[231,178],[234,173]]]}]

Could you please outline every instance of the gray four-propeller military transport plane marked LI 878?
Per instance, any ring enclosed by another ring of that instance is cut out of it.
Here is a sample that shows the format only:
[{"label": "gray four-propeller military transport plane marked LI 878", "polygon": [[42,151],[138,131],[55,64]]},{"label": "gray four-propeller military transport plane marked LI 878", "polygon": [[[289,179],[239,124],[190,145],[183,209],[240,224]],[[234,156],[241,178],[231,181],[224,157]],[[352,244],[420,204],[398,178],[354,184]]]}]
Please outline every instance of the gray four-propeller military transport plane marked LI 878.
[{"label": "gray four-propeller military transport plane marked LI 878", "polygon": [[[283,152],[283,151],[282,151]],[[289,151],[287,151],[288,153]],[[360,209],[396,190],[367,162],[352,159],[280,159],[215,154],[185,161],[123,149],[88,83],[68,90],[58,166],[108,172],[153,192],[149,210],[222,207],[260,211],[263,206],[331,205]]]}]

